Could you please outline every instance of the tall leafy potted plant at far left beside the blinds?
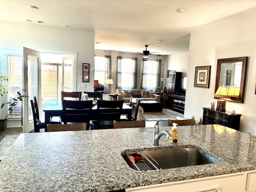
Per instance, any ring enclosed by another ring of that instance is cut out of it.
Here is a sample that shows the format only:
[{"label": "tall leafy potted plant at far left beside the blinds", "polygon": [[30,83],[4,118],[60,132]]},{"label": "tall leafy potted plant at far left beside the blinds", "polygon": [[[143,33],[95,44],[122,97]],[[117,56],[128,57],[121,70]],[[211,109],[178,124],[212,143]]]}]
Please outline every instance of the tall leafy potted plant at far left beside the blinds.
[{"label": "tall leafy potted plant at far left beside the blinds", "polygon": [[5,100],[5,95],[8,94],[7,82],[8,82],[8,78],[6,76],[0,74],[0,93],[1,93],[1,97],[3,98],[3,104],[1,105],[1,109],[4,107],[5,104],[7,104],[9,107],[5,118],[0,119],[0,131],[6,130],[8,116],[17,107],[17,104],[20,101],[22,101],[22,96],[21,96],[20,92],[17,92],[17,94],[19,95],[18,98],[12,98],[11,101]]}]

